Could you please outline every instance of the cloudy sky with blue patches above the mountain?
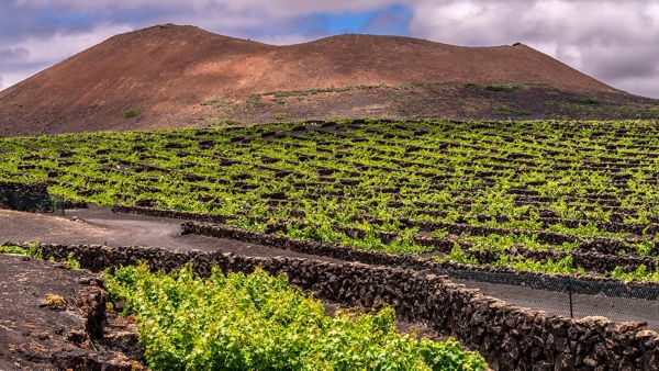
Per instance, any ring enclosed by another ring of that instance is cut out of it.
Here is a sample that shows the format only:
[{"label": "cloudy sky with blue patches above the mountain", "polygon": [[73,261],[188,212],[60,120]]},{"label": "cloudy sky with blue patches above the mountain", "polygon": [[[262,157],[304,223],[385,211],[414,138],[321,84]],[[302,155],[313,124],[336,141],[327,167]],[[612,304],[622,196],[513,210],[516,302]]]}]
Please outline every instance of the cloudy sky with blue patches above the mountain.
[{"label": "cloudy sky with blue patches above the mountain", "polygon": [[0,0],[0,89],[116,33],[160,23],[270,44],[339,33],[522,42],[659,98],[659,0]]}]

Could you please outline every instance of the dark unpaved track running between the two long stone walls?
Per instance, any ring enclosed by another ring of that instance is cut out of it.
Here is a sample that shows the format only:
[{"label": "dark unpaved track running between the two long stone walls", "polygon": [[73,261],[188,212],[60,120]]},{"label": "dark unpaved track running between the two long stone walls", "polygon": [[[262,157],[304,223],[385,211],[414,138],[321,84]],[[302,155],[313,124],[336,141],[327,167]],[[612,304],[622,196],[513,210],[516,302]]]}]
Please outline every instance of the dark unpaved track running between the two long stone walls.
[{"label": "dark unpaved track running between the two long stone walls", "polygon": [[[115,247],[158,246],[168,249],[221,250],[247,256],[286,256],[338,261],[232,239],[197,235],[181,236],[181,220],[114,214],[108,209],[69,210],[66,216],[0,210],[0,241],[40,240],[63,244],[104,244]],[[570,315],[566,293],[467,280],[454,281],[511,304],[545,311],[549,314]],[[647,322],[649,327],[659,329],[659,301],[580,294],[573,295],[572,299],[574,317],[601,315],[615,322]]]}]

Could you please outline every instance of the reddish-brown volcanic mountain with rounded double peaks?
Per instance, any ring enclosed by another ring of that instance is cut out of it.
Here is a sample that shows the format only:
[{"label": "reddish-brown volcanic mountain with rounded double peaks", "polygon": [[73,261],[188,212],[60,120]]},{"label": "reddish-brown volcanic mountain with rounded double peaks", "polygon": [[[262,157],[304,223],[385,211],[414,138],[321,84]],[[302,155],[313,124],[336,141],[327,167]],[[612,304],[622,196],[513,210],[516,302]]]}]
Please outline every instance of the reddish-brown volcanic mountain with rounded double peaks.
[{"label": "reddish-brown volcanic mountain with rounded double peaks", "polygon": [[1,91],[0,136],[224,120],[606,116],[602,108],[656,104],[523,44],[349,34],[275,46],[167,24],[113,36]]}]

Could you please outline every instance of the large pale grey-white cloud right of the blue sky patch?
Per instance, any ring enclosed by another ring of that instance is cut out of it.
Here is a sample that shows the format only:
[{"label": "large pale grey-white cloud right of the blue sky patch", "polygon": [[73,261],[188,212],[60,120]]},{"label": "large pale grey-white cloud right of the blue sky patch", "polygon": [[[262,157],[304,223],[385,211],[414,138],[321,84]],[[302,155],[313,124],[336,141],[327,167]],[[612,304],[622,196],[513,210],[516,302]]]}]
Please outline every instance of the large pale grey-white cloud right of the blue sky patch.
[{"label": "large pale grey-white cloud right of the blue sky patch", "polygon": [[454,0],[413,9],[410,30],[421,37],[523,42],[616,88],[659,97],[659,1]]}]

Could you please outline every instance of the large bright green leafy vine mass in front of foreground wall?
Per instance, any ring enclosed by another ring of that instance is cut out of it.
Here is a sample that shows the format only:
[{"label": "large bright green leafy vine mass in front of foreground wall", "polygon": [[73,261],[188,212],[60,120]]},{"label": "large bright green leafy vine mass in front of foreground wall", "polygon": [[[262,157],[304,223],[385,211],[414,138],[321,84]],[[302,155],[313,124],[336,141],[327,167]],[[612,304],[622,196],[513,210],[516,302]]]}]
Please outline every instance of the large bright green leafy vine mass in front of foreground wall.
[{"label": "large bright green leafy vine mass in front of foreground wall", "polygon": [[111,300],[135,314],[154,370],[484,370],[453,340],[400,335],[392,308],[326,316],[323,304],[291,289],[286,276],[189,268],[150,273],[146,266],[108,274]]}]

